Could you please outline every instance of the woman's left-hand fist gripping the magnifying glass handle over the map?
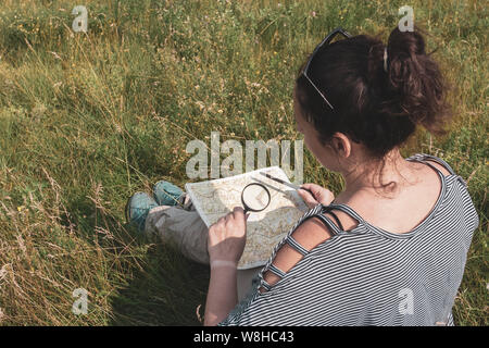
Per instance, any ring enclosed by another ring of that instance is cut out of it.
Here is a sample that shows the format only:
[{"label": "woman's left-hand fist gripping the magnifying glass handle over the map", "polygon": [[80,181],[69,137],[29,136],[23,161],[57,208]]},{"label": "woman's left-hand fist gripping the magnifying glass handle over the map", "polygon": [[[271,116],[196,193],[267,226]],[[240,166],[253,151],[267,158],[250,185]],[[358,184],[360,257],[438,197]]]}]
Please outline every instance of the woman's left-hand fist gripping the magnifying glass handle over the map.
[{"label": "woman's left-hand fist gripping the magnifying glass handle over the map", "polygon": [[247,241],[247,219],[240,207],[209,227],[209,258],[238,263]]}]

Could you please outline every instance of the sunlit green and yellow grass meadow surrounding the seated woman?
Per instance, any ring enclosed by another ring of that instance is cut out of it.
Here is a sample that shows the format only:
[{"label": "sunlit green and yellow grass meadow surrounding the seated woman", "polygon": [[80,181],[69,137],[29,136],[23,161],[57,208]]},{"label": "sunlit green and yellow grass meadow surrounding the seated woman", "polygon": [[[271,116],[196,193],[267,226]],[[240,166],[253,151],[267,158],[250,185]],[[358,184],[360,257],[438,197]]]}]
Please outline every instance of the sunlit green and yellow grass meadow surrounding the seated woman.
[{"label": "sunlit green and yellow grass meadow surrounding the seated woman", "polygon": [[[82,2],[82,3],[80,3]],[[72,9],[88,9],[74,33]],[[446,159],[480,217],[456,325],[488,325],[488,29],[484,1],[3,0],[0,3],[0,325],[199,325],[208,268],[125,227],[136,190],[187,181],[186,144],[299,135],[292,87],[334,27],[379,34],[414,8],[455,119],[403,148]],[[342,188],[309,151],[304,181]],[[88,313],[75,315],[76,288]]]}]

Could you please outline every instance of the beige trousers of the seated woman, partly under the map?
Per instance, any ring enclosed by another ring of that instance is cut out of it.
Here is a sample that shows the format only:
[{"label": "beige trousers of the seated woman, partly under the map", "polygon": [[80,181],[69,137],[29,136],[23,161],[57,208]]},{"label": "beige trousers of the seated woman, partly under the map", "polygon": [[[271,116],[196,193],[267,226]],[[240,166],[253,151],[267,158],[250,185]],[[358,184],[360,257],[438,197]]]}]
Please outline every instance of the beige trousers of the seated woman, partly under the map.
[{"label": "beige trousers of the seated woman, partly under the map", "polygon": [[[145,229],[148,236],[159,236],[163,241],[174,244],[186,258],[209,264],[208,226],[200,219],[188,195],[183,195],[180,206],[151,209]],[[238,270],[238,300],[250,290],[251,279],[261,269]]]}]

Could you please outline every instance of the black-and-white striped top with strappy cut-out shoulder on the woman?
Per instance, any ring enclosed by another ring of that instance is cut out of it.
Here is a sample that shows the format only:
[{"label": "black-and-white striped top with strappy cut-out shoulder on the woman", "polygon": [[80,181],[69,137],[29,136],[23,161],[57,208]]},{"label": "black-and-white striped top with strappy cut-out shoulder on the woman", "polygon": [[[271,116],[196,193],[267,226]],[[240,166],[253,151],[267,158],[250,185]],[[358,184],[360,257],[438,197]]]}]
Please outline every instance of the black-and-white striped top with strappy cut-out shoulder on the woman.
[{"label": "black-and-white striped top with strappy cut-out shoulder on the woman", "polygon": [[[453,325],[451,309],[479,217],[466,183],[443,160],[424,153],[406,160],[429,165],[441,179],[438,200],[421,224],[394,234],[368,224],[346,204],[319,203],[274,248],[248,296],[218,325]],[[358,220],[358,226],[338,228],[323,215],[334,209]],[[308,251],[292,233],[313,216],[333,236]],[[303,254],[287,273],[272,264],[285,244]],[[263,277],[268,270],[280,277],[274,285]]]}]

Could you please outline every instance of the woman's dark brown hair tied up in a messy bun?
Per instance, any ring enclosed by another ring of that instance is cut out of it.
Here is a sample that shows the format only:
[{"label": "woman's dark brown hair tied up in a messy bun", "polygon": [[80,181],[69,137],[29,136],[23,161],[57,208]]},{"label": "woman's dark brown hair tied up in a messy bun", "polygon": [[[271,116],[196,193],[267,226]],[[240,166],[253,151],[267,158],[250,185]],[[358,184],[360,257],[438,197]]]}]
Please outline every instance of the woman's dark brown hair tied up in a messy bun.
[{"label": "woman's dark brown hair tied up in a messy bun", "polygon": [[302,75],[305,63],[301,66],[296,96],[323,145],[341,132],[381,159],[408,140],[418,124],[435,135],[446,133],[450,108],[444,83],[419,30],[392,30],[387,72],[385,48],[378,38],[358,35],[316,53],[308,74],[334,110]]}]

